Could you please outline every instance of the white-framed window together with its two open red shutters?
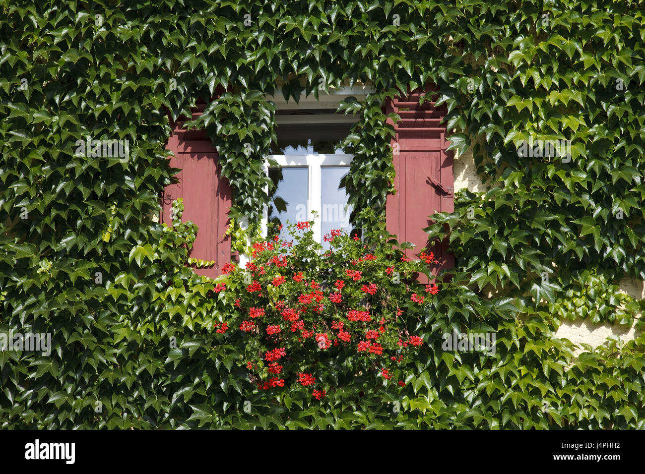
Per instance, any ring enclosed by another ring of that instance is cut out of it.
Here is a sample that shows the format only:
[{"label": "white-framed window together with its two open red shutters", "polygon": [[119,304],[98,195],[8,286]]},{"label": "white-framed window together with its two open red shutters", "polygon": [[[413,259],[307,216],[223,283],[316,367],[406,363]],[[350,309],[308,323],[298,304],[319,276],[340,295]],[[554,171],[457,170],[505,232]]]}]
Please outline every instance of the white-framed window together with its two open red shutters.
[{"label": "white-framed window together with its two open red shutters", "polygon": [[[281,94],[267,97],[278,108],[277,140],[270,153],[279,168],[270,170],[266,166],[266,173],[277,186],[271,205],[264,209],[265,235],[269,220],[309,220],[312,210],[318,212],[313,226],[315,238],[324,246],[327,242],[323,237],[332,228],[354,232],[349,224],[352,209],[346,206],[347,195],[339,187],[352,163],[352,150],[342,150],[339,144],[355,118],[333,112],[344,97],[360,100],[368,92],[364,88],[341,88],[321,95],[320,101],[303,94],[297,104],[286,103]],[[430,100],[419,104],[419,93],[388,99],[384,104],[386,113],[397,112],[402,118],[394,126],[392,146],[400,150],[393,155],[397,193],[387,197],[386,225],[399,241],[416,245],[405,251],[410,258],[432,244],[441,261],[432,269],[436,274],[441,268],[453,266],[454,257],[448,252],[447,242],[428,242],[423,228],[430,224],[431,213],[453,211],[453,157],[447,150],[445,125],[441,124],[446,106],[435,107]],[[226,235],[232,190],[221,176],[219,155],[206,133],[185,130],[185,120],[183,117],[173,124],[166,145],[175,153],[175,157],[169,157],[172,166],[182,172],[179,183],[168,184],[164,190],[161,221],[169,219],[172,200],[183,197],[184,220],[190,219],[199,226],[191,257],[216,262],[196,271],[215,277],[232,256],[230,235]],[[204,206],[204,202],[208,205]],[[240,219],[239,225],[246,228],[248,220]],[[242,266],[246,261],[248,255],[239,255]]]}]

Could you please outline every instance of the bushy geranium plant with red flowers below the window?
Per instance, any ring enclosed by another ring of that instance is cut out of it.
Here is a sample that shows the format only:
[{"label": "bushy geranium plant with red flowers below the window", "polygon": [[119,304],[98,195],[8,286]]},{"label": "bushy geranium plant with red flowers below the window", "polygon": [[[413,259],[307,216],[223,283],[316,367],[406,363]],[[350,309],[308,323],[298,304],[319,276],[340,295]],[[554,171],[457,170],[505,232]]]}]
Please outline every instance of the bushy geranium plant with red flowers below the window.
[{"label": "bushy geranium plant with red flowers below the window", "polygon": [[416,279],[436,263],[433,253],[410,260],[383,230],[332,230],[324,250],[312,224],[289,224],[288,233],[277,226],[253,242],[244,268],[225,265],[213,288],[213,330],[245,348],[249,390],[304,390],[320,400],[355,377],[366,388],[404,386],[402,362],[424,344],[409,328],[439,291]]}]

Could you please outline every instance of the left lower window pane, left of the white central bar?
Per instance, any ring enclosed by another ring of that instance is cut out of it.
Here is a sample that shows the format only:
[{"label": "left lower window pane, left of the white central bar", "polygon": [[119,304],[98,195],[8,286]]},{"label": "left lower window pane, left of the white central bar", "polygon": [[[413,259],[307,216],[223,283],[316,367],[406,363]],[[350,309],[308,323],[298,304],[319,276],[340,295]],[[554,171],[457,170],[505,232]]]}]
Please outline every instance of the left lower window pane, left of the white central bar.
[{"label": "left lower window pane, left of the white central bar", "polygon": [[[307,209],[309,195],[309,170],[306,166],[288,166],[270,168],[269,177],[275,184],[271,204],[268,209],[268,221],[286,225],[286,221],[295,223],[310,218]],[[287,239],[293,239],[283,229]]]}]

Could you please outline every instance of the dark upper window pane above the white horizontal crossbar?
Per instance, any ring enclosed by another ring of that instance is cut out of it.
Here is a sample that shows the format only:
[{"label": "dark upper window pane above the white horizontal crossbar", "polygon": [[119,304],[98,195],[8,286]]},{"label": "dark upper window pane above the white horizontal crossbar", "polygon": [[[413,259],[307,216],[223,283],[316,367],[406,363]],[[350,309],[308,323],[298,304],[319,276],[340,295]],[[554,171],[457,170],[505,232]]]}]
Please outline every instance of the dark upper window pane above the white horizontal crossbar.
[{"label": "dark upper window pane above the white horizontal crossbar", "polygon": [[350,134],[352,123],[282,124],[275,126],[277,143],[272,143],[272,155],[305,155],[352,153],[340,143]]}]

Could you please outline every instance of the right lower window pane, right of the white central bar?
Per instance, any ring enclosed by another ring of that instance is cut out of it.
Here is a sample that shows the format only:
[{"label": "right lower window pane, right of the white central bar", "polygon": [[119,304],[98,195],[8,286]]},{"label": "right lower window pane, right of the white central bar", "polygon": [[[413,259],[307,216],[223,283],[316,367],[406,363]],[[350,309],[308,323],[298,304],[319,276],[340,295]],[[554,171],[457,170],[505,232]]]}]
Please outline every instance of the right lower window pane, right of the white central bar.
[{"label": "right lower window pane, right of the white central bar", "polygon": [[[321,186],[321,231],[324,235],[331,232],[332,229],[343,229],[346,232],[352,230],[350,226],[350,214],[352,206],[347,204],[347,194],[345,188],[339,189],[341,178],[350,171],[349,166],[323,166],[322,186]],[[329,242],[321,242],[324,248],[329,248]]]}]

